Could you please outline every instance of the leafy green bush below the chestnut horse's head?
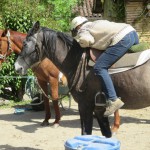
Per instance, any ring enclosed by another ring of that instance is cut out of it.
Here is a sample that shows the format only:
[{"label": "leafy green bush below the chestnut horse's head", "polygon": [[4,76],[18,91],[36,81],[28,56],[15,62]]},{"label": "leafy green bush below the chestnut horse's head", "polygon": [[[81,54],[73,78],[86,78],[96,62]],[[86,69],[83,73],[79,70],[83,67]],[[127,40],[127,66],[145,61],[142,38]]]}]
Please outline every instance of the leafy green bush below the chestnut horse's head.
[{"label": "leafy green bush below the chestnut horse's head", "polygon": [[[24,94],[25,78],[21,78],[16,74],[14,69],[14,61],[16,54],[12,53],[7,60],[2,63],[0,70],[0,95],[7,99],[22,100]],[[14,78],[15,77],[15,78]],[[11,88],[11,90],[7,90]]]}]

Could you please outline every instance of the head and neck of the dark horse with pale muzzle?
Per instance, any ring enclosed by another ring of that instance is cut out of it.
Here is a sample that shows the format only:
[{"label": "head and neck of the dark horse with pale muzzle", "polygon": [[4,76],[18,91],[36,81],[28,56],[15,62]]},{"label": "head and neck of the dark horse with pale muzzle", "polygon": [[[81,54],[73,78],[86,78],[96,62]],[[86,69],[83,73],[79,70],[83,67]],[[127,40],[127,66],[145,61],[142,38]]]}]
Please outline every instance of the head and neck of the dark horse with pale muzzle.
[{"label": "head and neck of the dark horse with pale muzzle", "polygon": [[[71,36],[40,27],[40,23],[36,22],[24,40],[22,52],[15,63],[15,69],[19,74],[25,74],[28,68],[37,65],[44,57],[47,57],[63,72],[72,70],[73,73],[83,51],[84,49],[81,49]],[[66,65],[67,69],[64,67]]]}]

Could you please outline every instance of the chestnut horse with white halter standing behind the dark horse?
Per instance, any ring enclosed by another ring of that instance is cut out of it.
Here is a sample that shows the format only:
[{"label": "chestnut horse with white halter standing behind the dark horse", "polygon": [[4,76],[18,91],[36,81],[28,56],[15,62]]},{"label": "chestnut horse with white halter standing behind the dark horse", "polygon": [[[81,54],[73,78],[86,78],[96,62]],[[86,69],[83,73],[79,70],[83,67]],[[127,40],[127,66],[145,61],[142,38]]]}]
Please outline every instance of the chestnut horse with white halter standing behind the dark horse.
[{"label": "chestnut horse with white halter standing behind the dark horse", "polygon": [[[7,37],[7,30],[2,32],[2,36],[0,37],[0,55],[7,57],[12,52],[15,52],[19,54],[22,49],[23,40],[26,38],[26,34],[16,32],[16,31],[10,31],[10,37]],[[0,62],[2,63],[4,59],[0,59]],[[54,125],[58,126],[60,121],[60,110],[58,106],[58,76],[60,71],[57,69],[57,67],[48,59],[45,58],[43,61],[38,64],[38,66],[34,66],[32,68],[34,74],[36,75],[38,79],[38,83],[40,87],[43,89],[45,94],[48,95],[48,88],[47,88],[47,82],[50,83],[51,87],[51,97],[53,102],[53,107],[55,111],[55,122]],[[63,75],[61,78],[62,84],[66,84],[66,78]],[[48,125],[48,120],[51,118],[51,111],[50,111],[50,105],[49,105],[49,99],[47,96],[43,94],[43,100],[45,105],[45,119],[41,125],[45,126]]]}]

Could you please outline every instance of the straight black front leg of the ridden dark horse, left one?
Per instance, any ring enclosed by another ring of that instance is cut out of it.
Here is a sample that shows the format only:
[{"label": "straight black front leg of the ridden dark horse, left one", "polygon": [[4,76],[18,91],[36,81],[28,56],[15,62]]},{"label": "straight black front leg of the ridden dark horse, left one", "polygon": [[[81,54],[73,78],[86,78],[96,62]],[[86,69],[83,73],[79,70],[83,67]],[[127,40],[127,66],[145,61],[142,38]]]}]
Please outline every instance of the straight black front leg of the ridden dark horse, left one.
[{"label": "straight black front leg of the ridden dark horse, left one", "polygon": [[81,134],[91,135],[93,127],[93,107],[86,105],[87,104],[81,105],[78,103],[81,121]]}]

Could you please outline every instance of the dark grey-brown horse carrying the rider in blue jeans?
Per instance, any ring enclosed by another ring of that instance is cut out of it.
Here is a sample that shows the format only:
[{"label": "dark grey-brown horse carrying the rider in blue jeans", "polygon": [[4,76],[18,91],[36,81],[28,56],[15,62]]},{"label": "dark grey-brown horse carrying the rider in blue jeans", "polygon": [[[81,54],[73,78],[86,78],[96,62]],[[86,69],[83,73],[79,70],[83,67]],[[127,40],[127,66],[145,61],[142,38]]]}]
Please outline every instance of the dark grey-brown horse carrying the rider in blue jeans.
[{"label": "dark grey-brown horse carrying the rider in blue jeans", "polygon": [[[82,134],[91,134],[92,113],[95,111],[99,114],[96,114],[96,117],[103,135],[110,136],[108,118],[103,117],[103,108],[94,110],[94,97],[101,87],[93,69],[86,65],[87,60],[83,52],[72,37],[40,27],[37,22],[28,32],[15,68],[17,72],[24,74],[30,66],[41,61],[46,55],[68,79],[71,93],[79,104]],[[134,56],[130,59],[133,58]],[[128,71],[112,74],[118,96],[125,102],[126,108],[143,108],[150,105],[149,74],[150,61]]]}]

